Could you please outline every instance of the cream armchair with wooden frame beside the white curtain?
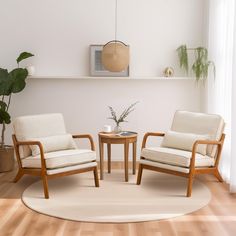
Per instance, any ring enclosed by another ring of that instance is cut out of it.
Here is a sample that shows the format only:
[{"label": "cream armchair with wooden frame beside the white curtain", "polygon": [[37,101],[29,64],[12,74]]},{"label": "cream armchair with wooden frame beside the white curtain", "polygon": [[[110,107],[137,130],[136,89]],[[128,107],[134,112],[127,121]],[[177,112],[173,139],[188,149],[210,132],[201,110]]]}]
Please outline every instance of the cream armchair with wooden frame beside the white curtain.
[{"label": "cream armchair with wooden frame beside the white curtain", "polygon": [[[170,131],[144,135],[137,184],[141,184],[143,169],[187,177],[187,197],[196,174],[214,174],[222,182],[218,164],[224,126],[219,115],[176,111]],[[161,137],[161,145],[146,147],[149,136]]]}]

